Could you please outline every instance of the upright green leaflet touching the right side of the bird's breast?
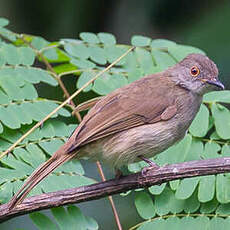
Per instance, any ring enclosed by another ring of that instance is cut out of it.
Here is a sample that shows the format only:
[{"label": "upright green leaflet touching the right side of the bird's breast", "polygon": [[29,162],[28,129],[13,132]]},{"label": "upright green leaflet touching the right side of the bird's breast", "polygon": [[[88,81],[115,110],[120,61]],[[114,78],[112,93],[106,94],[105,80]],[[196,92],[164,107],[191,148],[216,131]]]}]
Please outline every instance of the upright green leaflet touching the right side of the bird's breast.
[{"label": "upright green leaflet touching the right side of the bird's breast", "polygon": [[207,134],[209,125],[208,108],[201,104],[200,110],[189,127],[189,132],[196,137],[204,137]]}]

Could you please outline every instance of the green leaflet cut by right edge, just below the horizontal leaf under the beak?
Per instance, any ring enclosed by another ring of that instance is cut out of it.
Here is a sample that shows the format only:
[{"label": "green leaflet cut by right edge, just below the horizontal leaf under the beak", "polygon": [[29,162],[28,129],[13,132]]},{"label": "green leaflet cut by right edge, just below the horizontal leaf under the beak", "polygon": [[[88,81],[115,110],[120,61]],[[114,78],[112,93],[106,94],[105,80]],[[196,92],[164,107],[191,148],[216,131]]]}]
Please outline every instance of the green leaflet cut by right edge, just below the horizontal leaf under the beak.
[{"label": "green leaflet cut by right edge, just below the horizontal leaf under the beak", "polygon": [[[223,105],[213,103],[211,107],[217,134],[223,139],[230,138],[230,111]],[[224,122],[223,122],[224,121]]]}]

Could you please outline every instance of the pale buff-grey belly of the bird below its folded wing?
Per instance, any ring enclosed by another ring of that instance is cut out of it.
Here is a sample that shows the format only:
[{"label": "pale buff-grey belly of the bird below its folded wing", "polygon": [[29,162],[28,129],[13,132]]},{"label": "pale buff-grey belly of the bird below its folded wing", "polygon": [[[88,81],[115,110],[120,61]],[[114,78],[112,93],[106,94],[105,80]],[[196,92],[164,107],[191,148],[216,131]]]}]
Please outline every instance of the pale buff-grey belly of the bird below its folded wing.
[{"label": "pale buff-grey belly of the bird below its folded wing", "polygon": [[120,168],[122,165],[140,161],[138,156],[153,157],[181,140],[188,126],[163,121],[142,125],[86,145],[80,155],[90,160]]}]

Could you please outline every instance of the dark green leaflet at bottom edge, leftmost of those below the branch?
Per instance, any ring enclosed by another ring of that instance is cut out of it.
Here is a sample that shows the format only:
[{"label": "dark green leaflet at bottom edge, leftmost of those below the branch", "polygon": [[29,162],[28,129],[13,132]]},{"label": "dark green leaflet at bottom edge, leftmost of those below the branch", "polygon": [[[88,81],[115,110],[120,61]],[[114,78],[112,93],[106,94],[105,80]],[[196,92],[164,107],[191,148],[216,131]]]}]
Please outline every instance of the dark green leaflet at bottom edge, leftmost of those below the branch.
[{"label": "dark green leaflet at bottom edge, leftmost of those below the branch", "polygon": [[39,230],[57,230],[56,225],[43,213],[34,212],[29,215],[33,223],[38,227]]}]

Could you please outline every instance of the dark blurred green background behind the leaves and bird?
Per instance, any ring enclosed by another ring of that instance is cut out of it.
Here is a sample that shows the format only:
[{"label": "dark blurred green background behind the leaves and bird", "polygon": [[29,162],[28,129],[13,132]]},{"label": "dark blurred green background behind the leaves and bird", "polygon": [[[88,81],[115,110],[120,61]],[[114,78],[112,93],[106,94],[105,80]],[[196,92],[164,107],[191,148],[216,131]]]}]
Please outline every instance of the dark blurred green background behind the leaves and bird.
[{"label": "dark blurred green background behind the leaves and bird", "polygon": [[[89,31],[113,33],[119,43],[130,43],[131,36],[138,34],[195,46],[216,62],[220,79],[230,88],[229,0],[1,0],[0,17],[10,20],[12,31],[49,41],[77,38],[79,32]],[[96,174],[94,164],[85,165],[88,175]],[[112,177],[111,171],[106,172]],[[131,197],[115,196],[115,202],[124,229],[133,225],[135,218],[140,220]],[[80,207],[98,221],[100,229],[116,229],[107,199]],[[35,229],[28,217],[18,217],[1,230],[17,228]]]}]

